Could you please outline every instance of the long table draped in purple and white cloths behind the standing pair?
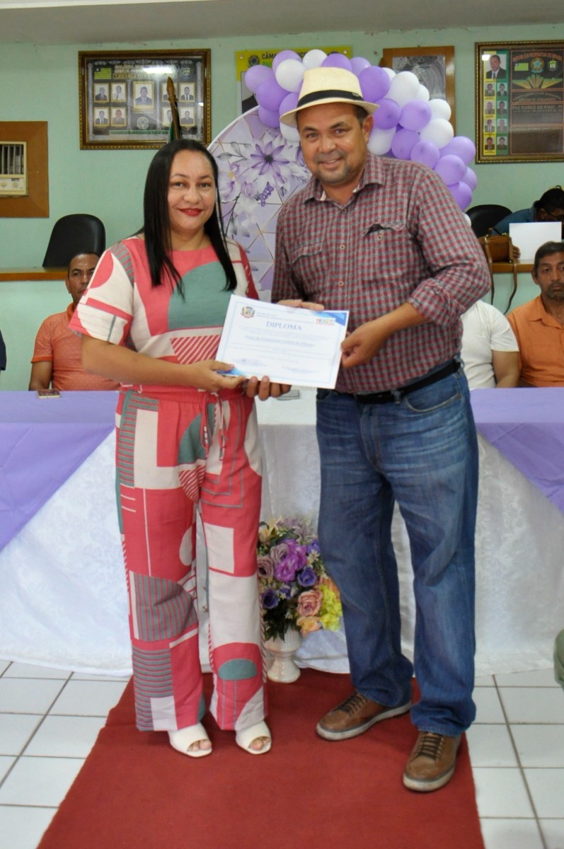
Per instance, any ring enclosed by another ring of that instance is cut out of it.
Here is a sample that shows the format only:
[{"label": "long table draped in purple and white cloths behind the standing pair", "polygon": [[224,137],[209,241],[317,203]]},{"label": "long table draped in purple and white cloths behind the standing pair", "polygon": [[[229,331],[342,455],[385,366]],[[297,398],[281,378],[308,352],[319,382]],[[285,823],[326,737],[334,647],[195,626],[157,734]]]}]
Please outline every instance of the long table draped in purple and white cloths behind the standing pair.
[{"label": "long table draped in purple and white cloths behind the standing pair", "polygon": [[[477,673],[548,668],[564,624],[564,389],[475,390],[471,400],[480,450]],[[38,399],[0,391],[0,657],[82,672],[130,670],[115,403],[115,393]],[[315,520],[314,392],[257,408],[262,518]],[[398,515],[392,535],[410,655],[415,610]],[[298,656],[308,666],[347,671],[341,631],[310,635]]]}]

